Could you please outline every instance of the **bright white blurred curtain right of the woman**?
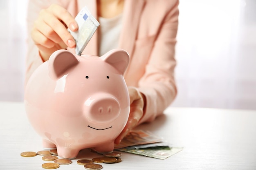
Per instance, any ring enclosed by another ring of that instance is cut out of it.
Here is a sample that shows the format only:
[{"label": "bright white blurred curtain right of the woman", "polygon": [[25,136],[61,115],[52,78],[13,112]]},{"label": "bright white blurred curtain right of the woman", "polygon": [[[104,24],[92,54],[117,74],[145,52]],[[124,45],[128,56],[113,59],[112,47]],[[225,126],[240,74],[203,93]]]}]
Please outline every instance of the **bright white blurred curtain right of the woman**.
[{"label": "bright white blurred curtain right of the woman", "polygon": [[255,0],[180,0],[172,106],[256,109],[255,9]]}]

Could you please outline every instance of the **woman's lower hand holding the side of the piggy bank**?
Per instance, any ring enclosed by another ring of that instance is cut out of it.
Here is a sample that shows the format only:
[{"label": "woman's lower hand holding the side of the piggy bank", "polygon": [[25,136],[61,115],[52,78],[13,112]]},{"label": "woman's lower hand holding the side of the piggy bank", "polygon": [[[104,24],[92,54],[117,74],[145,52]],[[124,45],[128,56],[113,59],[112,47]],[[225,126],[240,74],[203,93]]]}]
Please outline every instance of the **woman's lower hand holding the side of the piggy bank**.
[{"label": "woman's lower hand holding the side of the piggy bank", "polygon": [[134,128],[137,126],[139,120],[143,116],[143,108],[146,105],[145,96],[140,93],[135,87],[128,87],[130,95],[130,115],[124,130],[115,139],[115,144],[119,144],[121,140]]}]

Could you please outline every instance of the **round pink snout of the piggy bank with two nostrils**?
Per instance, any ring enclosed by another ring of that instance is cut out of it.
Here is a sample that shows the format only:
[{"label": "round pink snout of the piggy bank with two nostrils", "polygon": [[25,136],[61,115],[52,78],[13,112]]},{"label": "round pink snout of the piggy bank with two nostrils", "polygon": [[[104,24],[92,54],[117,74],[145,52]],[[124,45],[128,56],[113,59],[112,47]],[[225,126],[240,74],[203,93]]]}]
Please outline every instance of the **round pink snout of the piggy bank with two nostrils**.
[{"label": "round pink snout of the piggy bank with two nostrils", "polygon": [[85,102],[85,115],[93,124],[108,124],[114,121],[120,110],[118,100],[110,94],[98,93]]}]

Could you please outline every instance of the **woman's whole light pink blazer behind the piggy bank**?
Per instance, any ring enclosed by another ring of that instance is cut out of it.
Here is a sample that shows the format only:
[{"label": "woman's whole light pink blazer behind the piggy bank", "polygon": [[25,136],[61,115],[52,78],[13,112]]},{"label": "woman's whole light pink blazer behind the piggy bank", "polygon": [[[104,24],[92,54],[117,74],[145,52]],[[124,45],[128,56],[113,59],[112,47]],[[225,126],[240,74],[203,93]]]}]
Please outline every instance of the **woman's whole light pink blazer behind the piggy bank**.
[{"label": "woman's whole light pink blazer behind the piggy bank", "polygon": [[[30,0],[28,35],[40,9],[60,4],[72,16],[87,6],[97,18],[96,0]],[[119,48],[130,55],[130,64],[124,75],[128,86],[135,86],[146,97],[147,105],[142,122],[153,121],[171,104],[177,90],[174,79],[175,44],[178,26],[179,0],[126,0],[123,12]],[[27,40],[26,80],[43,63],[30,37]],[[74,52],[74,49],[69,49]],[[83,53],[98,55],[97,32]]]}]

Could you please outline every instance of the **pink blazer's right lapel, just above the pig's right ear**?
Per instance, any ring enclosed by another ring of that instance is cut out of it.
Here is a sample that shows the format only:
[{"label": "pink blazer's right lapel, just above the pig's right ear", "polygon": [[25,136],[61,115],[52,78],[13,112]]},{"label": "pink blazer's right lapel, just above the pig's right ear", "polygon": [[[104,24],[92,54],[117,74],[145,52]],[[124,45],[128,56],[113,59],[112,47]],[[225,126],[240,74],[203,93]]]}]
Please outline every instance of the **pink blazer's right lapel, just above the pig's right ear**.
[{"label": "pink blazer's right lapel, just above the pig's right ear", "polygon": [[126,50],[130,55],[130,59],[133,53],[139,20],[144,4],[144,0],[125,0],[123,27],[119,39],[119,48]]}]

